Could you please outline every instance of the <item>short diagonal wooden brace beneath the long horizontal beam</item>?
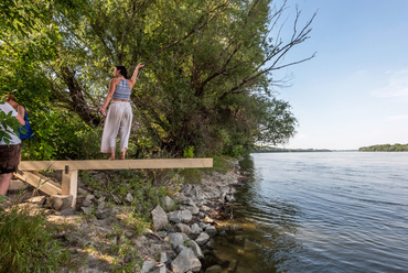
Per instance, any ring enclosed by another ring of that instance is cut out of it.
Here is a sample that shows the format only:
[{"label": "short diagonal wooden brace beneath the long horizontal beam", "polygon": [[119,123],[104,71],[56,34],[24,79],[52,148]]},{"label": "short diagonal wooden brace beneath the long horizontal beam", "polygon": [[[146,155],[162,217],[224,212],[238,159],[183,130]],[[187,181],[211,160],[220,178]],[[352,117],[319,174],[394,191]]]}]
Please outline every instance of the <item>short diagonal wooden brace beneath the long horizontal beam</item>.
[{"label": "short diagonal wooden brace beneath the long horizontal beam", "polygon": [[29,183],[30,185],[39,188],[47,195],[61,194],[61,186],[56,182],[36,172],[21,172],[21,174],[20,172],[18,172],[14,175],[19,179]]}]

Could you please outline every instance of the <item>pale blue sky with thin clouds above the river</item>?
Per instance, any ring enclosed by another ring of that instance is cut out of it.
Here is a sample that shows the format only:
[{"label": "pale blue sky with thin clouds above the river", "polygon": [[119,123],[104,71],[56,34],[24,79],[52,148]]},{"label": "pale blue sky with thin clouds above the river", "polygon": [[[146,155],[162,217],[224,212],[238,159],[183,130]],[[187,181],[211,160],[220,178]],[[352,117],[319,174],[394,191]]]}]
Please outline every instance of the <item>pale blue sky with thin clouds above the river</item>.
[{"label": "pale blue sky with thin clouds above the river", "polygon": [[299,121],[289,149],[356,150],[408,143],[408,1],[289,0],[303,20],[318,12],[310,39],[286,62],[316,55],[276,76]]}]

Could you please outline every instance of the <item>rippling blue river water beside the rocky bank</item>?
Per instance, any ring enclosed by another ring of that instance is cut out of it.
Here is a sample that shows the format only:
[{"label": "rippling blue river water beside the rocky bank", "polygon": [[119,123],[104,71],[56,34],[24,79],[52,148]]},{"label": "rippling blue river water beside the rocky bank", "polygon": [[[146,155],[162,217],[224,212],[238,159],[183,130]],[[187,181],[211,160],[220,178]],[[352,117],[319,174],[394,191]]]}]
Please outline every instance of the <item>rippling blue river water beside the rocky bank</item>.
[{"label": "rippling blue river water beside the rocky bank", "polygon": [[408,153],[259,153],[241,162],[237,272],[408,272]]}]

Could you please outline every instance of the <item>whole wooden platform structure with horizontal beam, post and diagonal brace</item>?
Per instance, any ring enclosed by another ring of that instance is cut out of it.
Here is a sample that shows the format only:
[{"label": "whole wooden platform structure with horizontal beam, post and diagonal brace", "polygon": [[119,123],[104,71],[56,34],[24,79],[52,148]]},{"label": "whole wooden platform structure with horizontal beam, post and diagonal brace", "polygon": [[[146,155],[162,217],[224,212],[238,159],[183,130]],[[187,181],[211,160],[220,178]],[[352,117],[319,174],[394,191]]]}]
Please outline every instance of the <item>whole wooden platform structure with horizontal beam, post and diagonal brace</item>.
[{"label": "whole wooden platform structure with horizontal beam, post and diagonal brace", "polygon": [[[213,167],[213,159],[97,160],[97,161],[22,161],[17,177],[49,195],[72,195],[76,203],[78,170],[201,168]],[[62,187],[36,171],[63,171]]]}]

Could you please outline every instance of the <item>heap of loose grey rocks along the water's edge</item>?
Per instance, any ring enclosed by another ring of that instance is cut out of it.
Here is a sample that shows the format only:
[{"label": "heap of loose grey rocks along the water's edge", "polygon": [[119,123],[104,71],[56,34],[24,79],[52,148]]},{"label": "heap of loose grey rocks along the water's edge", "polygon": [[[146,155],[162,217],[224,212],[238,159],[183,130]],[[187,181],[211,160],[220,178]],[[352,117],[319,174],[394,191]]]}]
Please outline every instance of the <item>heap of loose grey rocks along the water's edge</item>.
[{"label": "heap of loose grey rocks along the water's edge", "polygon": [[[216,177],[214,179],[214,177]],[[141,272],[222,272],[219,265],[203,269],[203,250],[211,249],[212,238],[217,234],[217,219],[226,203],[234,200],[235,185],[239,174],[206,177],[201,185],[184,185],[175,201],[178,210],[171,210],[174,201],[167,197],[164,208],[151,211],[154,231],[170,244],[174,259],[146,260]],[[168,210],[169,212],[165,212]],[[169,258],[169,255],[167,256]],[[234,272],[234,271],[229,271]]]}]

